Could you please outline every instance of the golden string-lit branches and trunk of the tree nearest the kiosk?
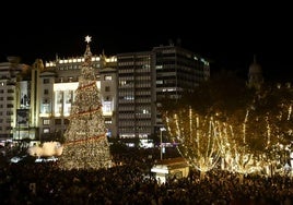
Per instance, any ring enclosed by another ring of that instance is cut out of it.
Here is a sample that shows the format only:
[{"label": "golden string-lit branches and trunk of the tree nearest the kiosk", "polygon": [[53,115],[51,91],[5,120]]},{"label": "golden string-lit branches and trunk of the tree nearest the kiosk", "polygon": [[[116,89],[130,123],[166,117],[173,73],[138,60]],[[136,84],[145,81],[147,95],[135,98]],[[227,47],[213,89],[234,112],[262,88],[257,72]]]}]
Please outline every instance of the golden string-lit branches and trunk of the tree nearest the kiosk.
[{"label": "golden string-lit branches and trunk of the tree nearest the kiosk", "polygon": [[189,107],[179,109],[166,117],[167,131],[187,162],[200,171],[213,169],[222,155],[223,140],[218,122],[213,117],[201,117]]}]

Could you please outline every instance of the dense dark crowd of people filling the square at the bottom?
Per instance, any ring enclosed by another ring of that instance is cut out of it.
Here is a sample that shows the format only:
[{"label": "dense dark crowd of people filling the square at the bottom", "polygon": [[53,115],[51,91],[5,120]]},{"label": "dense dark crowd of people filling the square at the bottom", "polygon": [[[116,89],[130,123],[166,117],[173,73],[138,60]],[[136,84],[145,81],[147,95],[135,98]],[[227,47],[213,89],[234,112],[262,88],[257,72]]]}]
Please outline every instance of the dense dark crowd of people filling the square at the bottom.
[{"label": "dense dark crowd of people filling the square at the bottom", "polygon": [[238,173],[212,170],[201,179],[192,170],[188,178],[173,177],[160,183],[151,172],[159,158],[160,154],[153,149],[136,149],[113,155],[117,166],[112,168],[70,171],[58,169],[58,160],[2,162],[0,202],[12,205],[289,205],[293,202],[293,182],[284,176],[241,178]]}]

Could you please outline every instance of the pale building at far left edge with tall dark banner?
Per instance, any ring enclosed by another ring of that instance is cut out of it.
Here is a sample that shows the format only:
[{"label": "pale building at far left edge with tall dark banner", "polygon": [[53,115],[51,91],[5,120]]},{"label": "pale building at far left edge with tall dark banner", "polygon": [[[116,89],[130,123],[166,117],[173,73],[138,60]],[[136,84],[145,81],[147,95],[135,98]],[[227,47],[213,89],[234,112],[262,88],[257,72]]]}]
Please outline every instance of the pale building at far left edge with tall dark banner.
[{"label": "pale building at far left edge with tall dark banner", "polygon": [[35,138],[37,107],[34,69],[8,57],[0,63],[0,138]]}]

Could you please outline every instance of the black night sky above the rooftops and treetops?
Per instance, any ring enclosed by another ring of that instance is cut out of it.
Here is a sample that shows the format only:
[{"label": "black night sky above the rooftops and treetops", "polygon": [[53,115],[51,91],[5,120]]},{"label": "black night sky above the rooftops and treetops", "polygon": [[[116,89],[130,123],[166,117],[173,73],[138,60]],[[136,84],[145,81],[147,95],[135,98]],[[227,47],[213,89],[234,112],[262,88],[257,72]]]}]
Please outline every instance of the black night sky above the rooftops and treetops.
[{"label": "black night sky above the rooftops and treetops", "polygon": [[[46,2],[46,1],[45,1]],[[180,1],[157,4],[71,2],[67,5],[27,5],[12,2],[1,13],[0,60],[20,56],[23,63],[81,56],[84,36],[92,52],[107,56],[151,50],[176,44],[213,61],[212,72],[234,70],[247,75],[256,55],[263,75],[292,81],[292,12],[277,2],[220,4]],[[49,2],[49,1],[48,1]]]}]

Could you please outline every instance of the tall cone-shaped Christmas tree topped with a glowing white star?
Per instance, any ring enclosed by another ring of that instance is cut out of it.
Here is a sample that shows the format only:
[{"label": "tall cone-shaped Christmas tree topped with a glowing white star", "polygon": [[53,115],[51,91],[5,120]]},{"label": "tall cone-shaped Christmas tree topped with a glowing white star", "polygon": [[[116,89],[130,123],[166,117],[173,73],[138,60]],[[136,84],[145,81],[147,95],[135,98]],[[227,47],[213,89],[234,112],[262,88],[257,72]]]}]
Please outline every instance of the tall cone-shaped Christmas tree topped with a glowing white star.
[{"label": "tall cone-shaped Christmas tree topped with a glowing white star", "polygon": [[74,92],[70,123],[65,133],[61,169],[101,169],[112,166],[109,144],[106,136],[99,91],[92,68],[91,37],[85,37],[86,50]]}]

